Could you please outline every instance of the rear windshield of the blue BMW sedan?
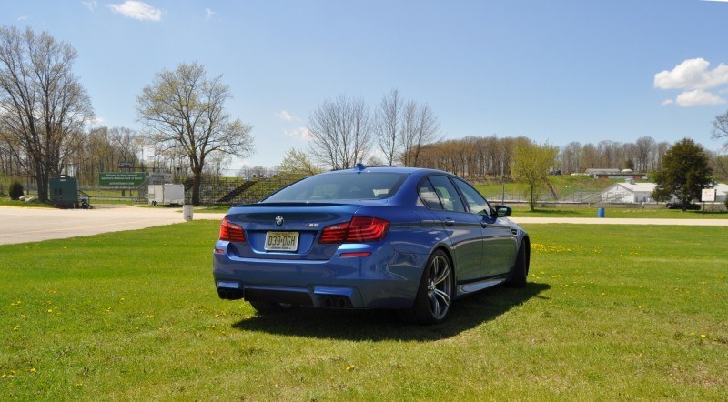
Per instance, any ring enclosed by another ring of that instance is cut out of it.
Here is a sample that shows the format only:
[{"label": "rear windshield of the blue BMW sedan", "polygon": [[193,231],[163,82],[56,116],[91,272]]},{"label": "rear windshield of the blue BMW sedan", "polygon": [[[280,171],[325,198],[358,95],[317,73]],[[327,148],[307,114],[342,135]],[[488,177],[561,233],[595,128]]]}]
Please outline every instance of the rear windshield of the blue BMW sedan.
[{"label": "rear windshield of the blue BMW sedan", "polygon": [[341,172],[310,176],[278,191],[264,203],[327,202],[329,200],[389,198],[408,174],[396,172]]}]

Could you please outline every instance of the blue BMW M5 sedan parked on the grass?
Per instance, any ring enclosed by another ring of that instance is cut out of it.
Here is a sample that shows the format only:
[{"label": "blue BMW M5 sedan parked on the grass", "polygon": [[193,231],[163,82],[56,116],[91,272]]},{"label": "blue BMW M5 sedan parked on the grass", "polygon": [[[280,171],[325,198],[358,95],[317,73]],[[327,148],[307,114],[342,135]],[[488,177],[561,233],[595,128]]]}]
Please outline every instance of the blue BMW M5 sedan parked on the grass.
[{"label": "blue BMW M5 sedan parked on the grass", "polygon": [[437,324],[452,301],[526,285],[531,244],[458,176],[357,165],[233,206],[213,258],[217,294],[259,313],[298,306],[391,308]]}]

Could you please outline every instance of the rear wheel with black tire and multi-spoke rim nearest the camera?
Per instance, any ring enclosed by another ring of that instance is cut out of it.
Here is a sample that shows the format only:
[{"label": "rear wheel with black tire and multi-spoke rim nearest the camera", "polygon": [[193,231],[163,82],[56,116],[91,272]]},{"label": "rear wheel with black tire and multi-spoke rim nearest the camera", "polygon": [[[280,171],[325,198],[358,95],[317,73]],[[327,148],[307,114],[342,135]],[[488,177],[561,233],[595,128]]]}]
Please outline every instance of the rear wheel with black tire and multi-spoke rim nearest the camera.
[{"label": "rear wheel with black tire and multi-spoke rim nearest the camera", "polygon": [[445,321],[452,307],[454,279],[450,258],[442,250],[435,251],[422,272],[414,305],[400,311],[400,317],[411,324],[424,326]]}]

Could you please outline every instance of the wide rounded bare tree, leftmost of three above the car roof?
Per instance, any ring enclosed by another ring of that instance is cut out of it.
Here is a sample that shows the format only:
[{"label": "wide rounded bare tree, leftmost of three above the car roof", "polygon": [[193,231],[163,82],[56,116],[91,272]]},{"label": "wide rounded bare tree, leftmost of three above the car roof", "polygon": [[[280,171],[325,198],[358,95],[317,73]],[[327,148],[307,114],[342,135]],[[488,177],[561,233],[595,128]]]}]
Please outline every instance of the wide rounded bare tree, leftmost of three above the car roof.
[{"label": "wide rounded bare tree, leftmost of three above the car roof", "polygon": [[333,169],[348,169],[369,156],[373,125],[369,107],[361,99],[339,95],[324,101],[308,117],[313,158]]}]

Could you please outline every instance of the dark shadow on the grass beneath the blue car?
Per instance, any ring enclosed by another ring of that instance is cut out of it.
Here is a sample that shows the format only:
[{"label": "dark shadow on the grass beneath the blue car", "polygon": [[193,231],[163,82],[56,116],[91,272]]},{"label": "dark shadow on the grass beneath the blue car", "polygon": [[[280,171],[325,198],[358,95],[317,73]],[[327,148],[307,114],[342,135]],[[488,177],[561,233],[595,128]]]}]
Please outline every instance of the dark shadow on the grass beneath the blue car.
[{"label": "dark shadow on the grass beneath the blue car", "polygon": [[233,324],[242,331],[265,332],[298,337],[345,340],[438,340],[454,337],[470,328],[508,313],[541,292],[548,284],[530,283],[525,288],[494,287],[457,300],[448,320],[437,326],[404,324],[395,311],[331,310],[298,308],[268,316],[257,315]]}]

